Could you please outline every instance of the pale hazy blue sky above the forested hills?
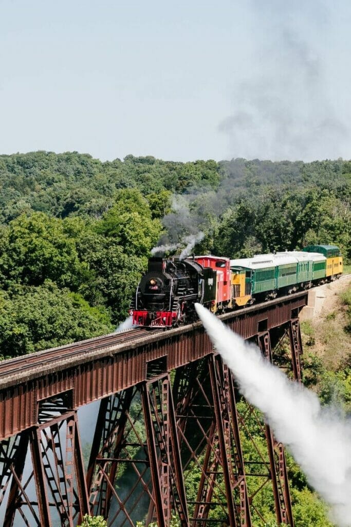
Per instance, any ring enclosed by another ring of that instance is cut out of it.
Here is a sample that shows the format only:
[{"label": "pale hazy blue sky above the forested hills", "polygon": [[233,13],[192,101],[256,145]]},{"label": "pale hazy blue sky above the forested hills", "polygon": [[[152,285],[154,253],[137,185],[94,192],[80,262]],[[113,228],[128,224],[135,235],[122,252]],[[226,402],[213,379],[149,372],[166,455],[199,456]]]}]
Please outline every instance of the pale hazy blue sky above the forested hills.
[{"label": "pale hazy blue sky above the forested hills", "polygon": [[0,0],[0,153],[351,158],[349,0]]}]

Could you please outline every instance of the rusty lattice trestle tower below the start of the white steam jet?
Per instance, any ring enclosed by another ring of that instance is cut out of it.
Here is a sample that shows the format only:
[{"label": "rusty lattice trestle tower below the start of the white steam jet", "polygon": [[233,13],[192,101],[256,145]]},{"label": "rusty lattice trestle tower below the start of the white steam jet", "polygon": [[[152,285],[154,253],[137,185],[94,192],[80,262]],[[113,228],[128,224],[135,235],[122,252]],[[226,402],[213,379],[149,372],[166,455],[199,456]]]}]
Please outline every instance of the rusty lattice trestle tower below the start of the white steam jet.
[{"label": "rusty lattice trestle tower below the start of the white steam jet", "polygon": [[183,472],[200,471],[196,500],[188,502],[193,527],[214,522],[209,513],[215,508],[222,511],[217,522],[250,527],[234,388],[228,368],[219,356],[210,354],[198,365],[196,377],[187,377],[184,386],[176,382],[175,388],[180,402],[177,417]]}]

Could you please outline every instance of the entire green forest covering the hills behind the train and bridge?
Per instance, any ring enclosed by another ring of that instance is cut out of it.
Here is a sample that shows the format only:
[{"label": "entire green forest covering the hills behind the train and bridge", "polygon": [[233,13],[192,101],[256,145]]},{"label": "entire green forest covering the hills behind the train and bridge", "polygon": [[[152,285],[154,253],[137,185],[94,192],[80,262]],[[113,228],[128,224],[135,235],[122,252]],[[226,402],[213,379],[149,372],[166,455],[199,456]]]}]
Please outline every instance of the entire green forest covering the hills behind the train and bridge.
[{"label": "entire green forest covering the hills behind the train and bridge", "polygon": [[[177,243],[181,251],[200,232],[195,253],[245,257],[333,243],[351,263],[350,161],[101,162],[39,151],[1,155],[0,186],[2,359],[114,331],[151,249]],[[307,355],[306,384],[323,403],[337,386],[348,410],[350,366],[327,371]],[[290,456],[288,465],[295,526],[331,525]],[[271,496],[260,509],[276,525]]]}]

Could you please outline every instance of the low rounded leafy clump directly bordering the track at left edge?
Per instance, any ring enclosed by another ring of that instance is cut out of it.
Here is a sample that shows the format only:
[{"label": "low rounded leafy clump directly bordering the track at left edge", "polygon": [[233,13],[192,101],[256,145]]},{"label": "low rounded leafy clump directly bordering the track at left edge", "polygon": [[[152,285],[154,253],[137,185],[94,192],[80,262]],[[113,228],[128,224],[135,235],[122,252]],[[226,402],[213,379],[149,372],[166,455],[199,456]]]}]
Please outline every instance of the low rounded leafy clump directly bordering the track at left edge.
[{"label": "low rounded leafy clump directly bordering the track at left edge", "polygon": [[89,306],[78,293],[44,284],[0,291],[0,350],[3,358],[110,333],[102,307]]}]

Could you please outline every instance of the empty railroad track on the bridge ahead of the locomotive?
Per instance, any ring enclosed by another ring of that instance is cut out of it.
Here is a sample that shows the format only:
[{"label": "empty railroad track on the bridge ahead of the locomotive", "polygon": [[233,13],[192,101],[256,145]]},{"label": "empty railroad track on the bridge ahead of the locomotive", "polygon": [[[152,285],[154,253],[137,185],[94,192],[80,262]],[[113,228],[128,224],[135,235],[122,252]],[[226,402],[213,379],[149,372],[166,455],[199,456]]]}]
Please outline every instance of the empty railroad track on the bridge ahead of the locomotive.
[{"label": "empty railroad track on the bridge ahead of the locomotive", "polygon": [[49,366],[56,363],[57,360],[64,360],[70,357],[79,357],[79,355],[86,354],[92,351],[98,351],[117,344],[125,344],[128,341],[141,338],[144,335],[150,335],[151,331],[163,331],[162,329],[144,329],[134,328],[118,331],[109,335],[101,337],[89,338],[81,340],[73,344],[65,344],[57,348],[44,349],[42,352],[36,352],[29,355],[22,355],[11,359],[2,360],[0,362],[0,379],[6,377],[8,374],[20,373],[28,368],[35,368],[36,366]]}]

